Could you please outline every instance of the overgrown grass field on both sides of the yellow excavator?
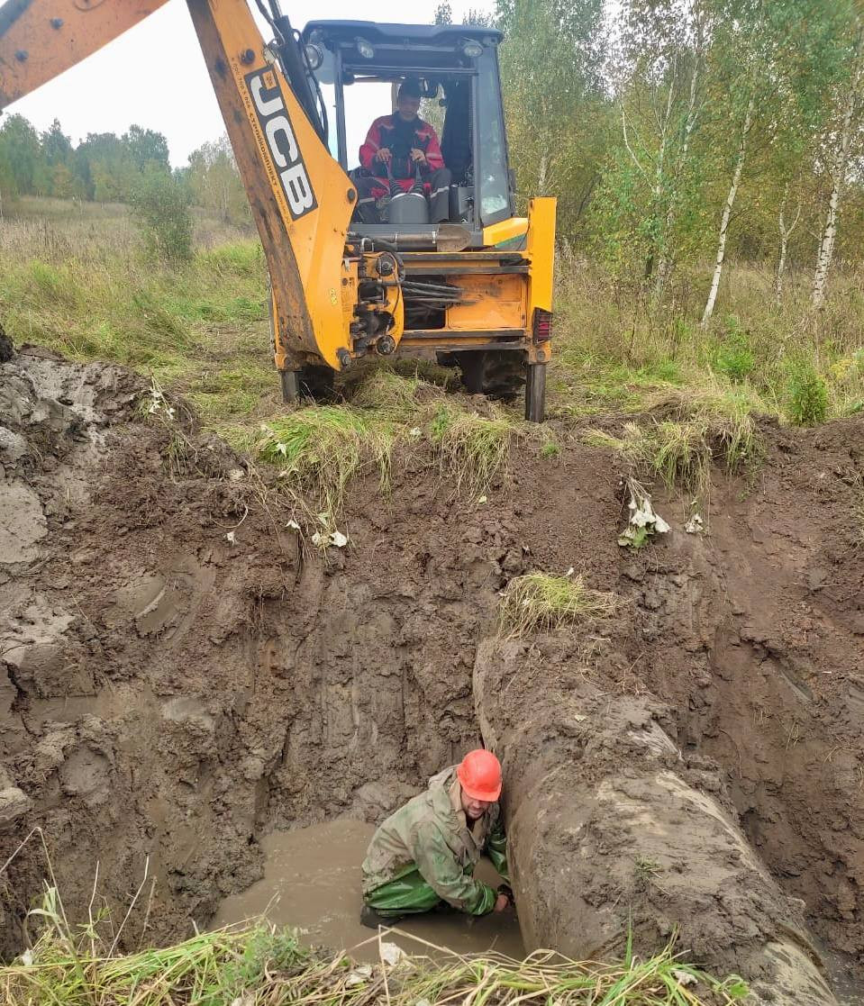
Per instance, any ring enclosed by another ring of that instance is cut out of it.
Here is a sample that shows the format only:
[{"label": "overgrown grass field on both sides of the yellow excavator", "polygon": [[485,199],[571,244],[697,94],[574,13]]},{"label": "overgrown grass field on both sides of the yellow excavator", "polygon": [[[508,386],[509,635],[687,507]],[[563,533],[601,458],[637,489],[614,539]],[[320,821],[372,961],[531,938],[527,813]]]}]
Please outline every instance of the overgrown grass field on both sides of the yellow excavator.
[{"label": "overgrown grass field on both sides of the yellow excavator", "polygon": [[[123,206],[22,199],[0,228],[0,321],[17,343],[151,372],[217,427],[255,424],[281,410],[264,257],[247,230],[199,214],[195,232],[194,261],[167,268],[144,258]],[[703,330],[706,282],[707,269],[682,276],[652,308],[560,248],[550,415],[641,412],[669,389],[805,425],[864,408],[861,277],[838,274],[815,316],[807,278],[775,304],[767,269],[732,266]]]}]

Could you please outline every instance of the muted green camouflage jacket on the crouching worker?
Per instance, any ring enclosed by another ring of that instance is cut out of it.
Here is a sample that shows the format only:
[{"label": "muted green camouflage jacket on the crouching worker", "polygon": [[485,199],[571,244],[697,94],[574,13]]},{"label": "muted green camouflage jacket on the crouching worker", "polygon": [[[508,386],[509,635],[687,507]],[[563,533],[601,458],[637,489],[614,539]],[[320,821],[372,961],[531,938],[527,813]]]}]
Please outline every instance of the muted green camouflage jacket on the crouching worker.
[{"label": "muted green camouflage jacket on the crouching worker", "polygon": [[459,802],[456,767],[429,780],[428,789],[391,814],[378,828],[363,861],[363,893],[369,894],[414,870],[442,898],[461,911],[482,915],[495,891],[474,879],[485,853],[507,877],[507,840],[498,804],[469,827]]}]

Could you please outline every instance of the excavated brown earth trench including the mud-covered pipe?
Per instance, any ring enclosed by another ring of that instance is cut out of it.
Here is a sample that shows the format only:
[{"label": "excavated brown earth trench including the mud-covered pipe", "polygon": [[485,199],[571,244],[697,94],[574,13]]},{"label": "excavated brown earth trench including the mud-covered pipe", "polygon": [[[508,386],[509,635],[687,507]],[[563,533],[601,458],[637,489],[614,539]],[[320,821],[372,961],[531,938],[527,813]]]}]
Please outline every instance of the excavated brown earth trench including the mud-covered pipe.
[{"label": "excavated brown earth trench including the mud-covered pipe", "polygon": [[[710,534],[656,500],[673,529],[635,554],[609,453],[518,446],[483,505],[397,457],[322,557],[144,390],[0,366],[0,862],[41,828],[73,915],[97,862],[114,905],[146,868],[130,932],[176,938],[261,880],[267,836],[371,826],[484,740],[528,948],[615,953],[632,919],[765,999],[832,1001],[816,946],[860,990],[864,421],[764,425]],[[497,638],[513,576],[570,567],[614,619]],[[6,955],[44,874],[33,839],[0,874]]]}]

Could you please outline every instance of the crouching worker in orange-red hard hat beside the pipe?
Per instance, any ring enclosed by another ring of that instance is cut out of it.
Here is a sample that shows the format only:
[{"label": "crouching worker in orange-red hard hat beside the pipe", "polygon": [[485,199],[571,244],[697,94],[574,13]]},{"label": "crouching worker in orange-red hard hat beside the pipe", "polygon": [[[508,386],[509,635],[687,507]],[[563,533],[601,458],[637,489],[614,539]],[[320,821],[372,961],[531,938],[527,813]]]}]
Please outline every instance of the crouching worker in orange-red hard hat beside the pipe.
[{"label": "crouching worker in orange-red hard hat beside the pipe", "polygon": [[470,915],[504,911],[513,903],[474,877],[481,855],[508,880],[507,840],[500,819],[501,763],[488,750],[429,780],[428,788],[391,814],[363,861],[363,909],[370,929],[450,905]]}]

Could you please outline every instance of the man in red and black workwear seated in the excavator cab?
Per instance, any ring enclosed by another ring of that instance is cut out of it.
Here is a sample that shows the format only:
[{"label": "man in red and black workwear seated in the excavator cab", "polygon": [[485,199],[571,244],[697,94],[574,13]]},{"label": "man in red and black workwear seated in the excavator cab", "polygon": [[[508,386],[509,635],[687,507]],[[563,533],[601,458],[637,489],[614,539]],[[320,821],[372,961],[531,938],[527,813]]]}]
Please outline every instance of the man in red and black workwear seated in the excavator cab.
[{"label": "man in red and black workwear seated in the excavator cab", "polygon": [[390,194],[390,178],[408,192],[415,183],[419,168],[423,192],[429,203],[429,220],[441,223],[450,215],[451,173],[444,158],[436,131],[419,118],[420,86],[403,80],[396,97],[394,115],[381,116],[369,127],[366,142],[360,148],[360,164],[369,172],[358,177],[357,213],[363,223],[380,223],[376,203]]}]

